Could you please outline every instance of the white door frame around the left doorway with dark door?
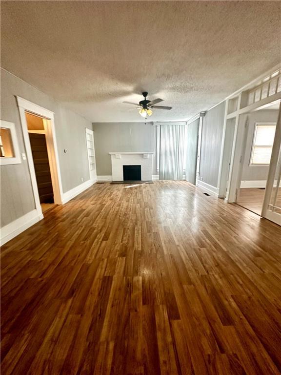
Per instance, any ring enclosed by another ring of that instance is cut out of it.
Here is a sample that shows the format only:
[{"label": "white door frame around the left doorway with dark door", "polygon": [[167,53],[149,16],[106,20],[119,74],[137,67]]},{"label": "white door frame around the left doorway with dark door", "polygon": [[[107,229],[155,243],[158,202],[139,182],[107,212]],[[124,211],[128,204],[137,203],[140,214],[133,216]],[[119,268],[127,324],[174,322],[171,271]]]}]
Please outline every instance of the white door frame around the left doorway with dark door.
[{"label": "white door frame around the left doorway with dark door", "polygon": [[46,144],[47,144],[47,151],[48,151],[48,159],[51,171],[51,179],[54,191],[54,202],[58,205],[62,205],[62,184],[61,184],[61,174],[60,174],[60,163],[59,163],[59,156],[58,156],[58,146],[56,140],[56,132],[55,132],[55,120],[54,120],[54,112],[41,107],[38,104],[29,102],[26,99],[23,99],[17,96],[17,102],[20,111],[20,124],[23,134],[23,141],[27,156],[28,167],[31,176],[31,184],[33,189],[33,195],[35,200],[35,206],[38,214],[42,214],[42,209],[40,205],[40,198],[39,198],[39,191],[36,181],[36,174],[34,168],[34,162],[32,157],[32,151],[30,146],[30,140],[28,135],[28,126],[26,122],[25,112],[30,112],[37,116],[43,118],[44,127],[46,130]]}]

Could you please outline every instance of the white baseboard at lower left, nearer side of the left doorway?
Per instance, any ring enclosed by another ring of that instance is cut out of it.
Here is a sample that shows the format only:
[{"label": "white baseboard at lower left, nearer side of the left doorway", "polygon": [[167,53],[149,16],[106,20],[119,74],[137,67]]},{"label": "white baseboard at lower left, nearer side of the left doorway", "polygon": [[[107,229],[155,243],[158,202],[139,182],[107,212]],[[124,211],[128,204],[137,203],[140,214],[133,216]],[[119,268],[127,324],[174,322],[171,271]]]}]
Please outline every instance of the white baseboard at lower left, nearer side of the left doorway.
[{"label": "white baseboard at lower left, nearer side of the left doorway", "polygon": [[18,219],[12,221],[11,223],[5,225],[5,227],[0,229],[0,245],[4,245],[6,242],[10,241],[12,238],[16,237],[25,229],[33,226],[43,218],[43,214],[39,214],[38,211],[34,209],[19,217]]}]

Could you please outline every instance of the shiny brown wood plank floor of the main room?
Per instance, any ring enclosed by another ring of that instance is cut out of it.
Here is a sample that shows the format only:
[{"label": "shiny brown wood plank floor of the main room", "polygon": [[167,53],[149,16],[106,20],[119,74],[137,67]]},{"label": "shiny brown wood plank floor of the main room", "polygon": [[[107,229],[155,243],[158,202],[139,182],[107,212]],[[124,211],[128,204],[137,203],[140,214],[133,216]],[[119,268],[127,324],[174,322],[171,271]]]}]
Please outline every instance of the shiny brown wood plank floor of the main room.
[{"label": "shiny brown wood plank floor of the main room", "polygon": [[280,374],[280,250],[185,181],[96,184],[2,247],[2,374]]}]

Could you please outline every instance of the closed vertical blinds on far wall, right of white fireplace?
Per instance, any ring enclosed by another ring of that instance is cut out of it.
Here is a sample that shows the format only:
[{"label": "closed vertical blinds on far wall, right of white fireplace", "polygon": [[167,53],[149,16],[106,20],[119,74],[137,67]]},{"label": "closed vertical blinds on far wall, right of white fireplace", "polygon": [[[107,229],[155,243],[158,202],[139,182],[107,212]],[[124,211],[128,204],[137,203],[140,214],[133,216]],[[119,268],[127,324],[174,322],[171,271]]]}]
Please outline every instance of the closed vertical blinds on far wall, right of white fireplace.
[{"label": "closed vertical blinds on far wall, right of white fireplace", "polygon": [[160,125],[160,180],[182,180],[185,125]]}]

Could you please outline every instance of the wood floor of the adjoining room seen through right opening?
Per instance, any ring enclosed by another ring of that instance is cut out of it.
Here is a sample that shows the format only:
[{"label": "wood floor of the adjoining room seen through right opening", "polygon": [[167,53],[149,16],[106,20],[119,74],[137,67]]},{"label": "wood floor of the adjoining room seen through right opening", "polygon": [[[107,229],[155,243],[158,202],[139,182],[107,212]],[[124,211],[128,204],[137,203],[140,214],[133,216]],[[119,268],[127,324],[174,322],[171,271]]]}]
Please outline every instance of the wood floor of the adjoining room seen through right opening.
[{"label": "wood floor of the adjoining room seen through right opening", "polygon": [[[273,193],[275,193],[275,190],[276,188],[273,188]],[[257,187],[240,188],[237,204],[261,215],[264,193],[265,189]],[[276,206],[281,207],[281,187],[278,189]]]}]

